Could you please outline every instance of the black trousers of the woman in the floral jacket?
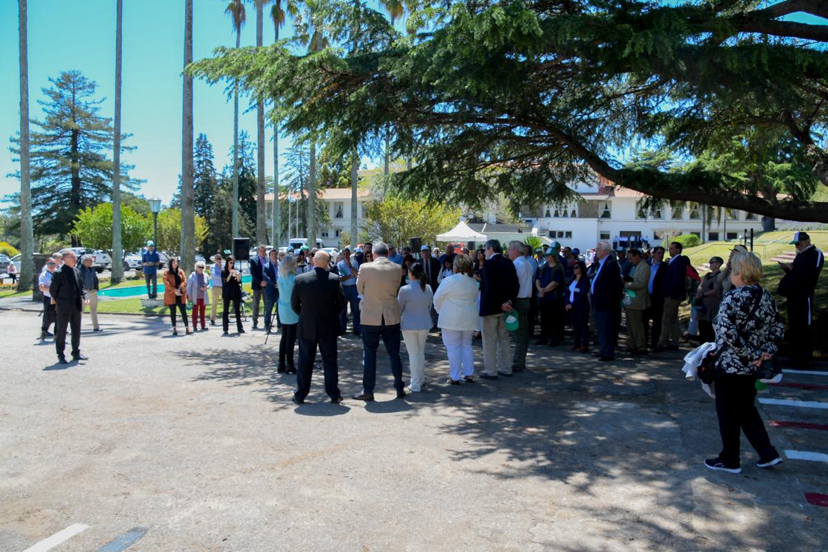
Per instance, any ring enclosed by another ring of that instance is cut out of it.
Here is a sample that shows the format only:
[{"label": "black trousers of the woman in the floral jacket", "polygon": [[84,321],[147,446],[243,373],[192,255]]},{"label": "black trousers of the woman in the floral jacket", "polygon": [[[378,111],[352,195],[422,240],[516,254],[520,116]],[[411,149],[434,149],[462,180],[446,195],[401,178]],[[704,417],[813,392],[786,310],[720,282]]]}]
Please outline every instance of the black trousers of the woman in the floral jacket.
[{"label": "black trousers of the woman in the floral jacket", "polygon": [[739,430],[756,449],[759,458],[772,460],[779,454],[773,448],[762,417],[756,410],[756,376],[715,372],[716,415],[725,463],[739,463]]}]

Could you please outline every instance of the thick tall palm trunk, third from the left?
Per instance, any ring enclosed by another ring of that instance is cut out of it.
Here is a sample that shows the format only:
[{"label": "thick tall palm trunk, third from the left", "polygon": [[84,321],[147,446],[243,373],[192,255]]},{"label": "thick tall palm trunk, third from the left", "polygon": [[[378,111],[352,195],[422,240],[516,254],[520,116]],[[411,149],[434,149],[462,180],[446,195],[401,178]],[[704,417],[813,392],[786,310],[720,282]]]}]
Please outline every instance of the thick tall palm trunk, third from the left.
[{"label": "thick tall palm trunk, third from the left", "polygon": [[[193,0],[184,7],[184,66],[193,62]],[[193,204],[193,77],[184,73],[181,143],[181,267],[195,267],[195,206]]]}]

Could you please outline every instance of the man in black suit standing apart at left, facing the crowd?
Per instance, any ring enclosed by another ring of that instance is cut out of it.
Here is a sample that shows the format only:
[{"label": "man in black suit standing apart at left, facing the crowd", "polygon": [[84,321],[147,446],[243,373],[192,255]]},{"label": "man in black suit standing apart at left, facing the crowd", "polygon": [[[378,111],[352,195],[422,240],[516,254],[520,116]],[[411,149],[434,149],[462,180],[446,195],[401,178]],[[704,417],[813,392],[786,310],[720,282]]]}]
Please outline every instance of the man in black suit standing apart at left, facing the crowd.
[{"label": "man in black suit standing apart at left, facing the crowd", "polygon": [[77,262],[74,252],[65,252],[63,266],[60,271],[55,271],[49,286],[49,295],[55,301],[55,348],[61,364],[66,363],[66,326],[72,329],[72,358],[75,361],[87,359],[80,354],[80,314],[84,311],[84,305],[89,305],[89,299],[80,271],[75,267]]}]

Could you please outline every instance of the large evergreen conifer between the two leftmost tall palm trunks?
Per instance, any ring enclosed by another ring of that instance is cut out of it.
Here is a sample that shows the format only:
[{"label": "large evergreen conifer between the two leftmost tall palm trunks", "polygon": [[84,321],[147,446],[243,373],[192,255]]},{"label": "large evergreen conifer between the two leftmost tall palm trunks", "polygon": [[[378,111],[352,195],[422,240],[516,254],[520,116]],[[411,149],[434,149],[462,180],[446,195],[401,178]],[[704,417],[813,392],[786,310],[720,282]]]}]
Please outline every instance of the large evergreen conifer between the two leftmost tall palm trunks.
[{"label": "large evergreen conifer between the two leftmost tall palm trunks", "polygon": [[[109,199],[113,180],[113,161],[106,155],[113,148],[112,119],[99,115],[103,99],[95,98],[97,84],[80,71],[49,80],[53,86],[43,89],[46,99],[38,102],[46,118],[31,119],[38,129],[31,132],[30,150],[32,218],[38,235],[68,233],[81,209]],[[12,151],[18,155],[19,146],[19,139],[12,138]],[[129,169],[122,164],[121,182],[136,190]]]}]

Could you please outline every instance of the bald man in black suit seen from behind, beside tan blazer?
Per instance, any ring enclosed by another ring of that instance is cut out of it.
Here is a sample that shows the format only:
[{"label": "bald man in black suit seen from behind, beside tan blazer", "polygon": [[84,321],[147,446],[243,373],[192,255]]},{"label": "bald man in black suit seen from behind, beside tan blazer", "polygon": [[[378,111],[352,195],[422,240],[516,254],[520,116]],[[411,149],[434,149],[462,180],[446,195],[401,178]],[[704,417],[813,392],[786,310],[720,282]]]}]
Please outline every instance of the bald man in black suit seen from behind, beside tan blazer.
[{"label": "bald man in black suit seen from behind, beside tan blazer", "polygon": [[291,308],[299,314],[296,337],[299,339],[299,371],[293,402],[301,405],[310,392],[310,374],[316,358],[316,346],[322,354],[325,370],[325,393],[334,404],[342,402],[339,372],[336,365],[336,337],[339,335],[339,311],[345,296],[339,276],[328,271],[330,256],[324,251],[313,257],[314,270],[296,276],[291,295]]}]

